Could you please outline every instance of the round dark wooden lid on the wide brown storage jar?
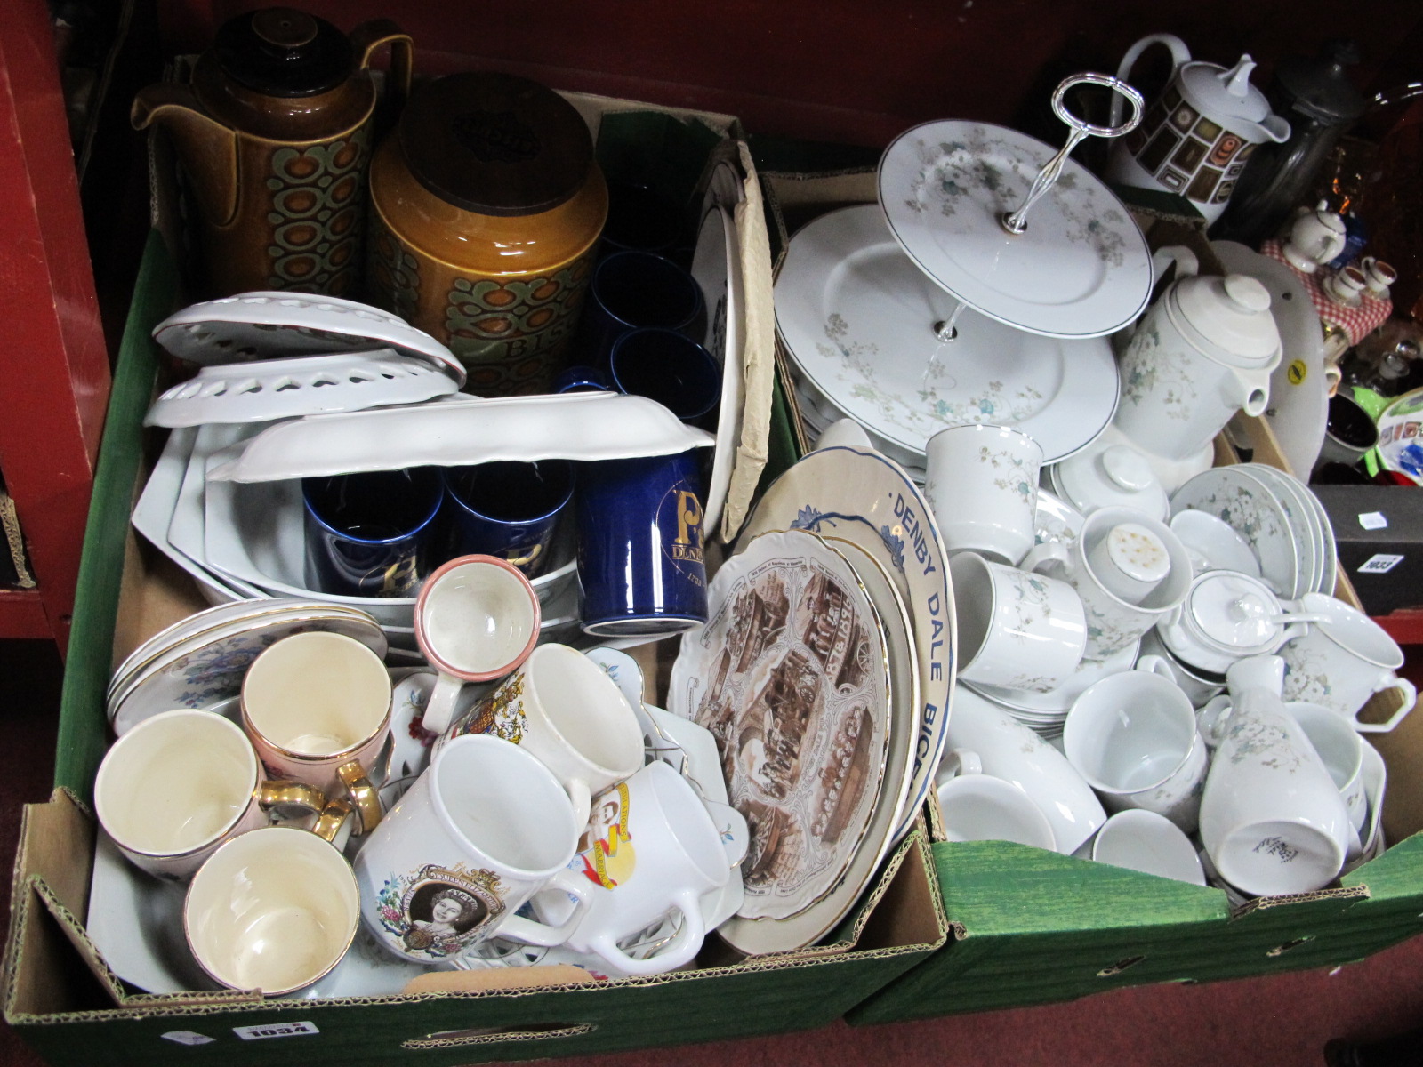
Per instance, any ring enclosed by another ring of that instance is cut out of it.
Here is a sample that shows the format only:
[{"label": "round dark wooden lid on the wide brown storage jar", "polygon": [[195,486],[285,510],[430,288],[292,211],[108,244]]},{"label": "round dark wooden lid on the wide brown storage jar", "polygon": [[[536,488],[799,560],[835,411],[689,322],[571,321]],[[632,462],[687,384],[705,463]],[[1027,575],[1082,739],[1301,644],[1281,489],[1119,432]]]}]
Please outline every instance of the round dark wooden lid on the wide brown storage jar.
[{"label": "round dark wooden lid on the wide brown storage jar", "polygon": [[450,74],[421,85],[400,117],[400,148],[416,179],[481,215],[556,208],[588,179],[593,138],[546,85],[511,74]]}]

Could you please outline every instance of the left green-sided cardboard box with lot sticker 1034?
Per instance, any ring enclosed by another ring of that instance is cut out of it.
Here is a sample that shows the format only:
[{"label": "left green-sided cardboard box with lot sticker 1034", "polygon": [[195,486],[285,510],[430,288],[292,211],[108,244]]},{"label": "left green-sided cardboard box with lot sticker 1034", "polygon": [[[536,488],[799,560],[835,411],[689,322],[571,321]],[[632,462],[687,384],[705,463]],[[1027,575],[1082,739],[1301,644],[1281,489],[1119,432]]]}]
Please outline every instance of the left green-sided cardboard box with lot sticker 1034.
[{"label": "left green-sided cardboard box with lot sticker 1034", "polygon": [[[598,104],[603,114],[608,104],[635,110],[606,101]],[[656,118],[652,125],[676,132]],[[741,159],[750,168],[748,155]],[[761,223],[756,198],[748,198],[748,208],[754,215],[743,219],[739,211],[737,223],[754,230]],[[161,212],[158,221],[168,226],[171,218]],[[770,275],[764,266],[760,270],[768,309]],[[127,522],[142,484],[145,444],[149,455],[155,444],[141,430],[161,363],[149,330],[181,306],[178,287],[169,242],[155,229],[100,454],[65,664],[55,792],[47,804],[27,807],[14,868],[4,1017],[44,1057],[117,1064],[186,1064],[201,1057],[238,1064],[260,1056],[273,1066],[386,1067],[586,1056],[784,1033],[838,1019],[943,943],[946,922],[921,822],[838,929],[800,952],[741,960],[713,938],[697,969],[649,979],[555,986],[544,984],[541,969],[475,972],[471,980],[488,983],[485,976],[492,975],[499,984],[383,999],[266,1002],[232,992],[149,996],[125,989],[84,932],[95,835],[87,805],[107,748],[104,690],[112,666],[147,636],[203,606],[186,576],[141,543]],[[249,1043],[275,1037],[285,1040]]]}]

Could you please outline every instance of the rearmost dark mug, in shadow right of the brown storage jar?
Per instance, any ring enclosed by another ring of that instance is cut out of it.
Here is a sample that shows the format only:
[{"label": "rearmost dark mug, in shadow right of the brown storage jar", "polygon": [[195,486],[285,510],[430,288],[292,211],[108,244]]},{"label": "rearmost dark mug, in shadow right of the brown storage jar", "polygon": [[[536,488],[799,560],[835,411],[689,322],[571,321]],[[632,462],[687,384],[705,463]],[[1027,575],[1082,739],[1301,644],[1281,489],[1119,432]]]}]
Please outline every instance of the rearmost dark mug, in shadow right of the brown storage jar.
[{"label": "rearmost dark mug, in shadow right of the brown storage jar", "polygon": [[629,330],[680,330],[693,326],[702,309],[702,286],[666,256],[615,252],[593,270],[576,351],[583,363],[606,366],[613,341]]}]

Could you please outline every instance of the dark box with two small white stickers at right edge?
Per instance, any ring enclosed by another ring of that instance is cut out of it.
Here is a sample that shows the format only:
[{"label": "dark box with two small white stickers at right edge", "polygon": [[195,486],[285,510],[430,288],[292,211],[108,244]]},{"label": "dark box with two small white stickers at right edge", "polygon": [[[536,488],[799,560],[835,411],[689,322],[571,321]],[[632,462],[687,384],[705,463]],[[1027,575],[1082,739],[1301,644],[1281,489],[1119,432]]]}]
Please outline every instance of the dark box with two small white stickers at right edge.
[{"label": "dark box with two small white stickers at right edge", "polygon": [[1423,492],[1402,485],[1313,485],[1329,512],[1339,566],[1363,610],[1423,606]]}]

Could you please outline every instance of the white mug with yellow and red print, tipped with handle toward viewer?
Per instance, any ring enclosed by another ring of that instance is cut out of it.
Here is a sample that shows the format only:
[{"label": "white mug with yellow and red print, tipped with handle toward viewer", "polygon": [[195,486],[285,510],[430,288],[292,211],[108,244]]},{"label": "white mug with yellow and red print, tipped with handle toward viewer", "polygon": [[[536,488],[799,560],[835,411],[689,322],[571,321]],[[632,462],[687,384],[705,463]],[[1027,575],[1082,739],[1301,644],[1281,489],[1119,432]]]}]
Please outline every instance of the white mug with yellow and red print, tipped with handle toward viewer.
[{"label": "white mug with yellow and red print, tipped with handle toward viewer", "polygon": [[[592,901],[566,946],[626,975],[689,963],[706,938],[702,898],[731,876],[702,798],[662,761],[596,798],[569,866],[591,885]],[[655,955],[635,957],[619,945],[669,912],[680,916],[680,928]]]}]

